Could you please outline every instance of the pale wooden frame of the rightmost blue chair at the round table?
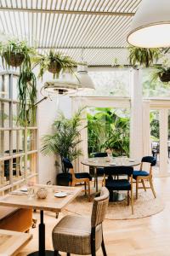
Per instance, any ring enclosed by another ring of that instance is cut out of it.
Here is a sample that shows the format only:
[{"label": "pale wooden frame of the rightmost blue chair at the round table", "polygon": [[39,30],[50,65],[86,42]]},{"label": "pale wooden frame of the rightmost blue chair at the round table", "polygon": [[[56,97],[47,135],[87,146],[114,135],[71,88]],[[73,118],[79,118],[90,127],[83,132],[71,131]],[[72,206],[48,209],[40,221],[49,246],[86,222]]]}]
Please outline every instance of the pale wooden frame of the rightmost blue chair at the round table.
[{"label": "pale wooden frame of the rightmost blue chair at the round table", "polygon": [[[141,162],[139,171],[142,171],[143,164],[144,164],[144,162]],[[145,181],[147,180],[150,182],[150,187],[145,186],[144,180]],[[156,198],[156,191],[154,189],[154,185],[153,185],[153,181],[152,181],[152,166],[151,165],[150,165],[150,174],[147,176],[137,176],[135,179],[135,183],[136,183],[136,199],[138,199],[139,189],[144,189],[144,191],[146,191],[146,189],[151,189],[154,197]],[[142,183],[143,186],[139,187],[139,183]]]}]

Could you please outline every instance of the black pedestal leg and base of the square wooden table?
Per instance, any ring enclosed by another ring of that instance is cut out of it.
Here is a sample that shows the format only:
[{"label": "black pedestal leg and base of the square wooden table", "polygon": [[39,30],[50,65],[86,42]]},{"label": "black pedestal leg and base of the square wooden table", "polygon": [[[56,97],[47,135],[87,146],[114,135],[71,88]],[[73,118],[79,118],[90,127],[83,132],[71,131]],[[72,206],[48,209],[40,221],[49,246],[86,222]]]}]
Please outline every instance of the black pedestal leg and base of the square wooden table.
[{"label": "black pedestal leg and base of the square wooden table", "polygon": [[[60,256],[60,254],[58,254]],[[40,211],[40,224],[39,224],[39,250],[28,256],[54,256],[54,251],[47,251],[45,249],[45,224],[43,222],[43,211]]]}]

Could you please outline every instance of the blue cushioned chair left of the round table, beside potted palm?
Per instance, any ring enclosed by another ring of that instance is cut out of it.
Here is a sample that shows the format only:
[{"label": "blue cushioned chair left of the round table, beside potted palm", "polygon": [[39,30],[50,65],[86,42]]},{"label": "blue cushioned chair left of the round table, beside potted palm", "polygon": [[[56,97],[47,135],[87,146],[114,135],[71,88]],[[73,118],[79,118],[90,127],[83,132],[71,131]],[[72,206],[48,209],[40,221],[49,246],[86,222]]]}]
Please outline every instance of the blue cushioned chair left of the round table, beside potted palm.
[{"label": "blue cushioned chair left of the round table, beside potted palm", "polygon": [[85,194],[87,194],[87,185],[88,185],[88,196],[90,200],[90,181],[92,177],[89,175],[88,172],[78,172],[75,173],[71,161],[68,158],[63,158],[62,160],[63,166],[65,168],[65,172],[71,173],[71,178],[69,180],[70,186],[76,186],[78,183],[84,183],[85,187]]}]

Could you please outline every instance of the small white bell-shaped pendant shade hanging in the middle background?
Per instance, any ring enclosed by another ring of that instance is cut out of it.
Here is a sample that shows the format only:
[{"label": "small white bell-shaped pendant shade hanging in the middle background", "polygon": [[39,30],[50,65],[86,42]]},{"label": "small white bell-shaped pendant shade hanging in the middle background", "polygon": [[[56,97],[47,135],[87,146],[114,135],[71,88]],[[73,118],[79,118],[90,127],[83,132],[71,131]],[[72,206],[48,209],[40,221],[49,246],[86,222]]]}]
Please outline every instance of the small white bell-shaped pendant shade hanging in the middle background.
[{"label": "small white bell-shaped pendant shade hanging in the middle background", "polygon": [[79,81],[79,90],[95,89],[94,82],[88,75],[88,65],[87,64],[78,65],[77,78]]}]

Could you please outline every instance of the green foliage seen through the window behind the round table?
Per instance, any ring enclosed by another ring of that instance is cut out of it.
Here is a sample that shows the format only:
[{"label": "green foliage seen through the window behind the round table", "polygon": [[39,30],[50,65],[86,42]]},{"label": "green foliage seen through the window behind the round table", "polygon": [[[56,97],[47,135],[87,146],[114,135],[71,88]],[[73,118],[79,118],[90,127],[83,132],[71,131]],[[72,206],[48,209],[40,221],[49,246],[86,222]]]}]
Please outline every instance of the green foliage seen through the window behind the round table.
[{"label": "green foliage seen through the window behind the round table", "polygon": [[94,108],[94,113],[88,113],[88,154],[105,148],[115,155],[129,155],[129,118],[112,108]]}]

